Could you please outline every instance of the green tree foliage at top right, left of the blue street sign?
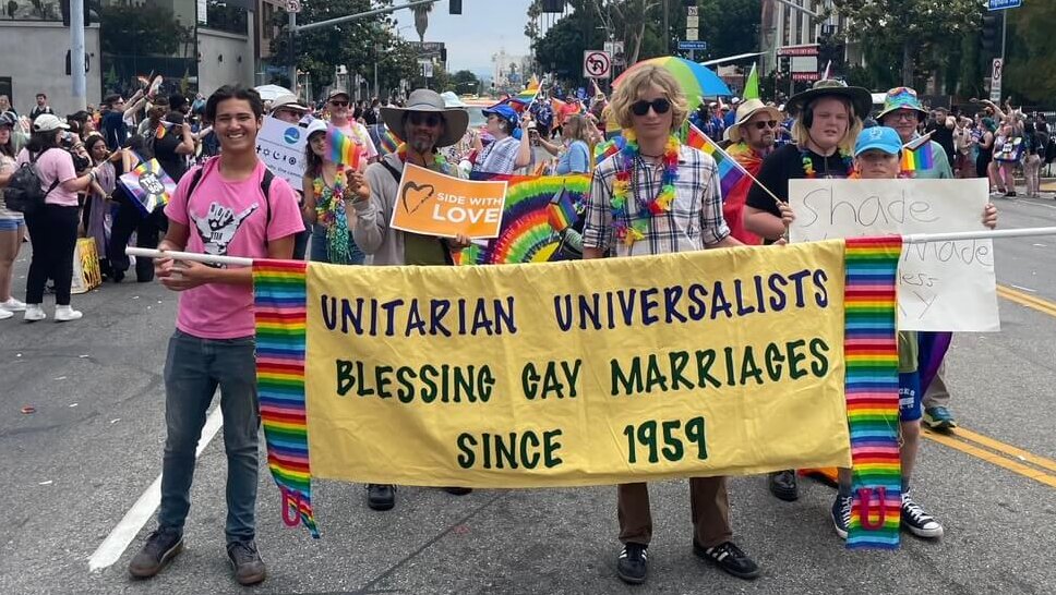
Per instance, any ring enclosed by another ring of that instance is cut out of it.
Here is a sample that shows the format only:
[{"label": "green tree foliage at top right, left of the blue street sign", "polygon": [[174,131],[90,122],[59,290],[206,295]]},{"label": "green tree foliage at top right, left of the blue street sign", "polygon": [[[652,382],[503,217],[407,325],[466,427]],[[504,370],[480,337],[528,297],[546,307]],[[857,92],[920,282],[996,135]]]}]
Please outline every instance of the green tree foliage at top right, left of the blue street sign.
[{"label": "green tree foliage at top right, left of the blue street sign", "polygon": [[[979,28],[983,4],[979,0],[832,0],[854,25],[849,35],[880,60],[880,68],[898,69],[900,82],[912,86],[917,70],[934,71],[943,63],[941,50],[960,44]],[[890,60],[891,57],[896,60]],[[866,57],[868,59],[868,57]],[[881,71],[876,72],[883,75]],[[886,78],[884,76],[883,78]]]}]

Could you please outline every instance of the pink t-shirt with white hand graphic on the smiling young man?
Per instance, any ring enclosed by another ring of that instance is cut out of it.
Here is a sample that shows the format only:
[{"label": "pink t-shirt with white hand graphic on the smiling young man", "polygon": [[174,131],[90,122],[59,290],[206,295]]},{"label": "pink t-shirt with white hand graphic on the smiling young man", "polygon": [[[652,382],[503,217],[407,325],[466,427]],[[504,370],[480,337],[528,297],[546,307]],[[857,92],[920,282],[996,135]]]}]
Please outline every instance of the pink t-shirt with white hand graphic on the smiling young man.
[{"label": "pink t-shirt with white hand graphic on the smiling young man", "polygon": [[[261,192],[264,163],[245,180],[224,179],[219,157],[207,161],[194,194],[188,204],[187,191],[199,168],[192,168],[176,187],[165,207],[172,221],[188,226],[187,252],[217,256],[266,258],[267,240],[278,240],[304,229],[297,196],[289,183],[275,177],[265,202]],[[271,209],[271,222],[268,221]],[[180,293],[176,328],[202,339],[251,337],[253,324],[253,288],[227,283],[207,283]]]}]

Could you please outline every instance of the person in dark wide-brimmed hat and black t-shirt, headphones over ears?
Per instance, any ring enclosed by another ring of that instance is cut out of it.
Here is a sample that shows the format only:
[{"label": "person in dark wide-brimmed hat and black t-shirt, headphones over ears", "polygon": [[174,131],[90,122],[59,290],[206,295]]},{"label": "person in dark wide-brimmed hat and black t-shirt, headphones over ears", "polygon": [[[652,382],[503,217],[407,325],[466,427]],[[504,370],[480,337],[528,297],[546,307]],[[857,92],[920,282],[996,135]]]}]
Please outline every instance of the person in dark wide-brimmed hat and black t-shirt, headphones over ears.
[{"label": "person in dark wide-brimmed hat and black t-shirt, headphones over ears", "polygon": [[[788,205],[789,180],[848,178],[862,117],[872,106],[867,89],[839,81],[818,81],[811,89],[792,96],[787,109],[796,116],[792,126],[795,144],[775,150],[763,161],[758,183],[748,191],[744,207],[745,229],[777,241],[795,219]],[[781,500],[800,497],[795,470],[770,473],[768,487]]]}]

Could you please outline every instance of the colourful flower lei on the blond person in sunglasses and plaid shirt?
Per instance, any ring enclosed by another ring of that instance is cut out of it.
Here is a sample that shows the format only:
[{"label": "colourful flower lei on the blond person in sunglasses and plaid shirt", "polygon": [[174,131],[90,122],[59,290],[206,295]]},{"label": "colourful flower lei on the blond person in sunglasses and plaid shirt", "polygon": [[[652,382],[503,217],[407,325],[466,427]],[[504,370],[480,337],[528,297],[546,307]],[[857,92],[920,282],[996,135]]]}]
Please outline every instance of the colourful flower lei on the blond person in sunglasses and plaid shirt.
[{"label": "colourful flower lei on the blond person in sunglasses and plaid shirt", "polygon": [[[674,183],[679,179],[679,151],[682,145],[674,135],[668,138],[663,149],[660,192],[648,201],[641,201],[637,193],[632,193],[631,190],[639,155],[638,139],[631,130],[624,130],[623,137],[626,144],[620,150],[621,167],[612,184],[612,227],[616,238],[629,246],[645,239],[649,231],[649,219],[671,210],[671,203],[675,195]],[[634,195],[633,205],[629,204],[632,195]]]}]

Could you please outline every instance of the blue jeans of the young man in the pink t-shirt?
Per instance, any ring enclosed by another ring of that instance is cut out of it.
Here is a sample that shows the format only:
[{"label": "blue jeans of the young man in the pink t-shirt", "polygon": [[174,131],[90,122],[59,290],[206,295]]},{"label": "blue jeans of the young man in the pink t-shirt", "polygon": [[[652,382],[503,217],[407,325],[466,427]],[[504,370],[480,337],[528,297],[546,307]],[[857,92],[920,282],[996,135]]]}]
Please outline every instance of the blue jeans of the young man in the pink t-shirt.
[{"label": "blue jeans of the young man in the pink t-shirt", "polygon": [[165,361],[165,460],[158,525],[183,531],[191,508],[194,450],[217,386],[227,452],[227,541],[256,533],[256,340],[201,339],[177,330]]}]

